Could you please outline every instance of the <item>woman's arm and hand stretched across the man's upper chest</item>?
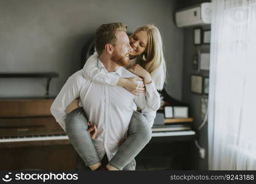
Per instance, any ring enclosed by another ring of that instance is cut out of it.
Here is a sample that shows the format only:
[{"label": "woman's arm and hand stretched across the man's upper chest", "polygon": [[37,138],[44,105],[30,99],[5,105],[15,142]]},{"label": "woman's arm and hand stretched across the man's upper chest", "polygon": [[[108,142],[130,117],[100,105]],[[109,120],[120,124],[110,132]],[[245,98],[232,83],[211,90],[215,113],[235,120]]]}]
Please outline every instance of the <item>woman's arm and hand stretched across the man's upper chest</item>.
[{"label": "woman's arm and hand stretched across the man's upper chest", "polygon": [[122,86],[133,94],[145,93],[143,84],[138,84],[140,78],[120,78],[118,76],[109,75],[104,69],[98,67],[98,53],[95,52],[90,58],[87,59],[85,66],[83,66],[83,76],[94,82],[104,83],[111,86]]}]

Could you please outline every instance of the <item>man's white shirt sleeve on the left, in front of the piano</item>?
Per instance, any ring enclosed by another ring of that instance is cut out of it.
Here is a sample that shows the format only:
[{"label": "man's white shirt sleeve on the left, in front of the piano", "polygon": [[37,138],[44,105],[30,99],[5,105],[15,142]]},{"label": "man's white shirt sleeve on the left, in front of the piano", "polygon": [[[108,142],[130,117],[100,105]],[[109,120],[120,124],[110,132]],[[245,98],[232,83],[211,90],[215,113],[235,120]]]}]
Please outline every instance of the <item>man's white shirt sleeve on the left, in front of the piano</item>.
[{"label": "man's white shirt sleeve on the left, in front of the piano", "polygon": [[[83,78],[84,80],[84,78]],[[82,85],[82,76],[77,73],[71,75],[64,86],[61,88],[60,93],[56,96],[53,101],[50,111],[55,120],[60,124],[61,128],[66,131],[65,119],[66,108],[76,98],[79,98],[80,86]]]}]

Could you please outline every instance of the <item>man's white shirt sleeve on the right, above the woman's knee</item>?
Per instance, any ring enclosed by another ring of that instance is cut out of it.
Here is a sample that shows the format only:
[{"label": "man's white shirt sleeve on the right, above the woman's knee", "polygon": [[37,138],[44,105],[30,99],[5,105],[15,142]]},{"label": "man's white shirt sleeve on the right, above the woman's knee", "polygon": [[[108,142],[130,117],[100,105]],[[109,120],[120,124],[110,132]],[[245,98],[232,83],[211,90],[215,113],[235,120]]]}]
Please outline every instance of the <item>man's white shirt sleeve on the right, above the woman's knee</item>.
[{"label": "man's white shirt sleeve on the right, above the woman's knee", "polygon": [[134,102],[141,109],[141,113],[146,118],[150,127],[152,127],[155,117],[157,115],[157,111],[149,108],[147,102],[145,101],[145,94],[141,93],[139,94],[139,96],[135,96]]}]

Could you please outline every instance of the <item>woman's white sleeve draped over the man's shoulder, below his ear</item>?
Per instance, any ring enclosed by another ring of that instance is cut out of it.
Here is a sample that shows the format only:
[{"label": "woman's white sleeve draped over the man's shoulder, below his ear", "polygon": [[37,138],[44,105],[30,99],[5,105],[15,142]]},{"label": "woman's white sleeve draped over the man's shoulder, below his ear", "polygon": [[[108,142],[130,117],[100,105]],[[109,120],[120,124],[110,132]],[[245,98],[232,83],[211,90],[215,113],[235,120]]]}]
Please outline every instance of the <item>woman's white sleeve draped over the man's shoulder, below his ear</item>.
[{"label": "woman's white sleeve draped over the man's shoulder, below his ear", "polygon": [[116,86],[119,77],[110,75],[106,70],[98,67],[98,53],[95,52],[83,66],[83,76],[93,82]]}]

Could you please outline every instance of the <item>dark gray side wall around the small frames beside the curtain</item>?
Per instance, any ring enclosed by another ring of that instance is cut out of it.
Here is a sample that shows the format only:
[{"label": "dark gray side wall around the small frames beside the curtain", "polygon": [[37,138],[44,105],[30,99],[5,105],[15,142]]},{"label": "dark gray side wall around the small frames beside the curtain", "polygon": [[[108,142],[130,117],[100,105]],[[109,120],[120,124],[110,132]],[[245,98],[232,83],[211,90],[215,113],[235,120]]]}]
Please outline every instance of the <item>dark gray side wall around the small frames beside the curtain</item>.
[{"label": "dark gray side wall around the small frames beside the curtain", "polygon": [[[209,0],[177,0],[177,9],[193,6],[195,4],[200,4],[201,2],[210,2]],[[196,28],[211,29],[210,25],[206,26],[196,26]],[[201,123],[201,99],[208,98],[201,94],[194,94],[190,92],[190,75],[197,74],[202,76],[209,76],[209,71],[198,71],[192,69],[192,56],[201,50],[202,53],[210,52],[210,45],[202,44],[200,46],[193,45],[193,29],[194,28],[184,28],[184,60],[183,60],[183,80],[182,80],[182,101],[187,102],[189,107],[190,117],[194,118],[193,128],[197,129]],[[205,158],[201,159],[198,153],[198,148],[195,144],[193,145],[192,154],[195,157],[196,169],[207,170],[208,169],[208,123],[203,126],[203,128],[198,131],[198,142],[201,147],[206,150]]]}]

